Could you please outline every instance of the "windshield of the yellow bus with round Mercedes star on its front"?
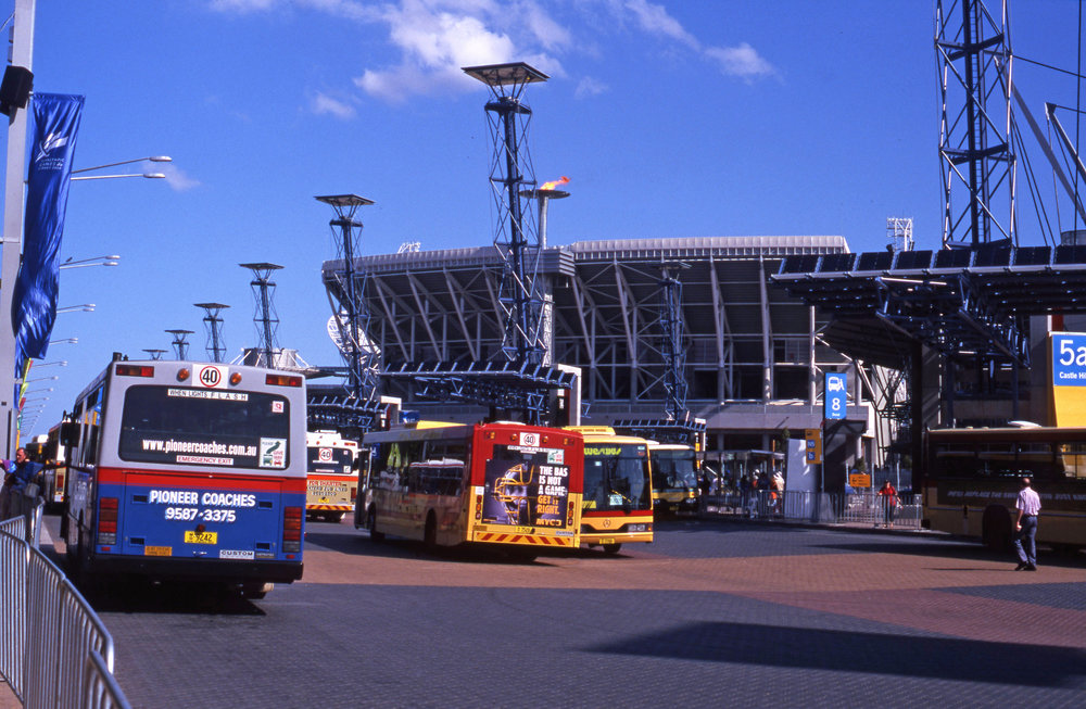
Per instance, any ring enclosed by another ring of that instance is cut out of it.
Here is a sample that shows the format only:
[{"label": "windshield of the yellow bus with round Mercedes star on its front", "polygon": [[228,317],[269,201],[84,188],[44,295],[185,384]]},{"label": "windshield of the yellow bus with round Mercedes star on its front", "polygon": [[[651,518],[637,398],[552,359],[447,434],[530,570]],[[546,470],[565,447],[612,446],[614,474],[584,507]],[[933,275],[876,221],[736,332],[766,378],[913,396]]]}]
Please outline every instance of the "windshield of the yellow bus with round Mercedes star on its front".
[{"label": "windshield of the yellow bus with round Mercedes star on its front", "polygon": [[585,443],[585,509],[645,509],[652,507],[648,455],[644,444]]}]

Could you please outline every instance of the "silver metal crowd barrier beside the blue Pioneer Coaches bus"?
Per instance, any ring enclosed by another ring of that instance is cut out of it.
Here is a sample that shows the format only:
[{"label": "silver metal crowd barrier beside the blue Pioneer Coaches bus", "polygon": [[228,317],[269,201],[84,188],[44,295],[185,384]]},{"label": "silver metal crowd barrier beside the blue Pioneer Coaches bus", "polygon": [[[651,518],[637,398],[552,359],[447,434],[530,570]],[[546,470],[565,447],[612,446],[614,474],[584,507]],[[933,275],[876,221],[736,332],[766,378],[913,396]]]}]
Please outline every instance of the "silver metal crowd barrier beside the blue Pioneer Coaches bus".
[{"label": "silver metal crowd barrier beside the blue Pioneer Coaches bus", "polygon": [[113,638],[37,548],[40,526],[41,505],[0,522],[0,674],[31,709],[127,708],[113,679]]}]

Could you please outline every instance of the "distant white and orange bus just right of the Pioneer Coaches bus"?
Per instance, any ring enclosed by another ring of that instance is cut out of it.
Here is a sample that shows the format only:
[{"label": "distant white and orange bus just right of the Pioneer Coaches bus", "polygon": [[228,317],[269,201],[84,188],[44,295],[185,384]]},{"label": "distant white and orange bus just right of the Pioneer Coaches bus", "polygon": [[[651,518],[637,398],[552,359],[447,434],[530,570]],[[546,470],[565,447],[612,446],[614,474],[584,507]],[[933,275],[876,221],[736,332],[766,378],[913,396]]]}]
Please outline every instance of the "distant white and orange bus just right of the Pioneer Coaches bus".
[{"label": "distant white and orange bus just right of the Pioneer Coaches bus", "polygon": [[354,510],[358,494],[358,442],[344,439],[338,431],[310,431],[305,445],[305,515],[338,522]]}]

